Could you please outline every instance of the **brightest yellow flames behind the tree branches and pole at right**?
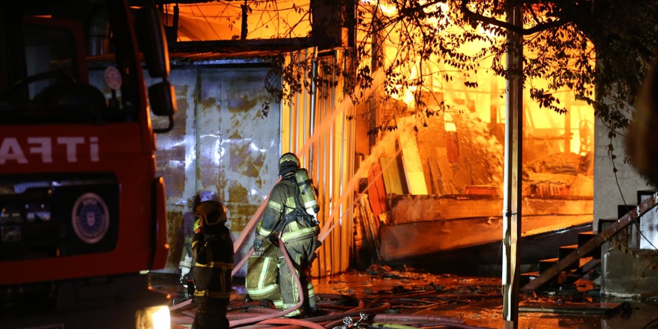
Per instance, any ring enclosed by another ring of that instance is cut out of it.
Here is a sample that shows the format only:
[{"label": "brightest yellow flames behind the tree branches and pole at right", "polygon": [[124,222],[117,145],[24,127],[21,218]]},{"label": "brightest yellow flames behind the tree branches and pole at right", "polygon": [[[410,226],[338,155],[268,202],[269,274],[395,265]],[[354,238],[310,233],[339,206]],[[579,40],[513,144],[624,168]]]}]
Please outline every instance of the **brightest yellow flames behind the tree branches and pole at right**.
[{"label": "brightest yellow flames behind the tree branches and pole at right", "polygon": [[[439,10],[447,10],[445,3],[436,5]],[[395,15],[397,11],[392,5],[380,3],[381,13],[386,15]],[[432,9],[435,10],[435,9]],[[434,26],[440,26],[445,22],[440,22],[436,18],[426,20]],[[494,37],[493,34],[486,32],[481,26],[479,32]],[[399,36],[392,28],[382,33],[388,38],[384,41],[384,61],[386,65],[393,64],[399,55],[399,45],[397,40]],[[362,36],[365,38],[365,36]],[[418,40],[420,45],[421,41]],[[465,53],[476,53],[484,47],[483,41],[472,41],[461,46],[461,51]],[[531,54],[527,54],[531,55]],[[594,59],[592,59],[594,61]],[[433,95],[434,99],[441,99],[450,108],[445,108],[446,113],[455,113],[455,111],[469,111],[476,115],[477,118],[488,124],[503,124],[505,122],[505,88],[507,82],[505,79],[495,76],[491,70],[492,59],[484,59],[480,63],[477,71],[461,71],[449,64],[443,63],[442,59],[432,56],[429,61],[421,61],[420,56],[407,61],[408,64],[397,66],[393,72],[405,77],[405,80],[413,84],[418,78],[418,72],[424,72],[424,84],[422,86],[411,86],[403,88],[397,85],[389,94],[393,99],[403,101],[410,108],[414,108],[415,95],[418,92],[426,92]],[[422,66],[421,66],[422,65]],[[428,74],[427,72],[432,72]],[[476,88],[467,88],[465,82],[477,82]],[[574,93],[571,90],[559,90],[553,95],[559,100],[559,105],[563,105],[569,111],[569,114],[559,114],[550,109],[540,108],[538,103],[530,98],[530,87],[540,89],[550,89],[549,82],[543,79],[526,80],[524,89],[524,111],[525,111],[525,134],[531,138],[530,143],[543,149],[541,153],[572,152],[579,155],[586,155],[591,151],[592,140],[594,139],[594,109],[585,101],[576,101]],[[592,88],[593,89],[593,88]],[[436,110],[436,109],[435,109]],[[441,109],[443,110],[443,109]],[[454,127],[447,120],[445,128],[453,131]],[[532,158],[528,158],[532,160]]]}]

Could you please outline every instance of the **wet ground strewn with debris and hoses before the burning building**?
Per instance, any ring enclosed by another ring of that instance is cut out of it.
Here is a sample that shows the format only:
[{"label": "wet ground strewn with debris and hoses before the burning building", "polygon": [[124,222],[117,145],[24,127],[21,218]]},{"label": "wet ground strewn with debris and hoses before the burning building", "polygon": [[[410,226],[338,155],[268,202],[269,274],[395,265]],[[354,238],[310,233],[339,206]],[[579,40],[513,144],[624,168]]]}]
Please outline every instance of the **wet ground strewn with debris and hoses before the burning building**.
[{"label": "wet ground strewn with debris and hoses before the burning building", "polygon": [[[260,322],[246,319],[261,318],[266,313],[275,315],[280,311],[264,308],[262,303],[246,305],[240,295],[245,291],[238,286],[229,305],[232,328],[257,323],[259,326],[281,325],[284,322],[318,329],[379,329],[376,326],[382,323],[403,324],[405,328],[503,328],[500,278],[430,274],[411,268],[377,265],[368,271],[314,280],[313,284],[320,315]],[[642,328],[658,313],[656,305],[640,301],[624,304],[603,300],[600,295],[589,293],[591,280],[579,281],[568,288],[522,294],[519,328]],[[156,286],[155,289],[161,290],[162,287]],[[175,290],[175,287],[169,289]],[[195,306],[177,307],[172,307],[172,328],[189,328]],[[386,322],[375,322],[381,319],[386,319]],[[244,324],[234,325],[238,322]],[[634,326],[636,324],[641,325]]]}]

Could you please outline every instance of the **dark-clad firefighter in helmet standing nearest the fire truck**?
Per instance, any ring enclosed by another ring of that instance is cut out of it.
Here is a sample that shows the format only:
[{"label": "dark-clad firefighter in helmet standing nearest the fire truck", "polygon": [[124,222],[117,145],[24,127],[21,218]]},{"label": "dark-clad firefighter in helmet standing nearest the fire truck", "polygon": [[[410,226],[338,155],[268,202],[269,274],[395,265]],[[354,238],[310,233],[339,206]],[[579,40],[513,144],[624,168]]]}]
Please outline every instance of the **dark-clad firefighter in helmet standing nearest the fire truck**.
[{"label": "dark-clad firefighter in helmet standing nearest the fire truck", "polygon": [[194,297],[198,305],[192,328],[228,329],[226,307],[231,297],[233,241],[226,223],[226,208],[217,201],[203,201],[196,208],[199,227],[195,229]]}]

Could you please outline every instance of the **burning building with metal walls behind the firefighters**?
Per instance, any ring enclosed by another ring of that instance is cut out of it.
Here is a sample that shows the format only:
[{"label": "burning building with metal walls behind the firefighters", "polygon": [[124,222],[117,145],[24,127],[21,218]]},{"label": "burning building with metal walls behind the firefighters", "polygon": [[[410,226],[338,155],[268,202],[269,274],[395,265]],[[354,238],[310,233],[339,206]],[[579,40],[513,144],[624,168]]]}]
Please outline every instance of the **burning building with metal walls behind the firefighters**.
[{"label": "burning building with metal walls behind the firefighters", "polygon": [[[355,268],[407,282],[440,280],[391,268],[448,281],[448,274],[493,280],[505,273],[506,97],[518,75],[505,63],[514,51],[509,35],[518,33],[524,59],[515,180],[523,213],[514,239],[524,274],[517,289],[555,291],[586,276],[605,295],[657,290],[657,274],[644,270],[655,261],[639,256],[658,243],[656,220],[644,215],[644,224],[628,225],[655,201],[622,160],[615,120],[625,110],[601,107],[601,97],[621,102],[588,71],[603,41],[578,30],[587,20],[556,28],[557,5],[547,1],[522,6],[527,34],[505,25],[498,1],[165,2],[179,111],[174,130],[158,137],[157,166],[166,180],[170,244],[183,252],[170,253],[163,272],[193,266],[186,251],[193,208],[216,199],[226,205],[236,245],[234,277],[243,277],[277,161],[293,152],[318,187],[322,245],[310,271],[318,287],[333,282],[335,289],[341,281],[332,278]],[[476,290],[499,284],[492,282]],[[412,296],[404,286],[390,294]],[[499,297],[500,290],[484,294]],[[324,295],[323,305],[341,304],[334,297]],[[380,305],[374,301],[372,308]],[[177,305],[182,325],[191,311]]]}]

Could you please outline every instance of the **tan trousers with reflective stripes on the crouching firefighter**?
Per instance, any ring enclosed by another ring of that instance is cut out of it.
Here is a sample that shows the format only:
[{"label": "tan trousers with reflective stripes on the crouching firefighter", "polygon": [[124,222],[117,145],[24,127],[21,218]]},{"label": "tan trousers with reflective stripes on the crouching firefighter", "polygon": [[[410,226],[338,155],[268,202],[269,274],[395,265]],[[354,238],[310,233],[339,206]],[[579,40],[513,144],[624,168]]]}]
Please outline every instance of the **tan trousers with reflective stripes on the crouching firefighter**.
[{"label": "tan trousers with reflective stripes on the crouching firefighter", "polygon": [[247,260],[245,286],[251,299],[268,299],[274,302],[277,309],[283,309],[277,266],[279,255],[279,248],[270,241],[264,240],[263,245]]}]

